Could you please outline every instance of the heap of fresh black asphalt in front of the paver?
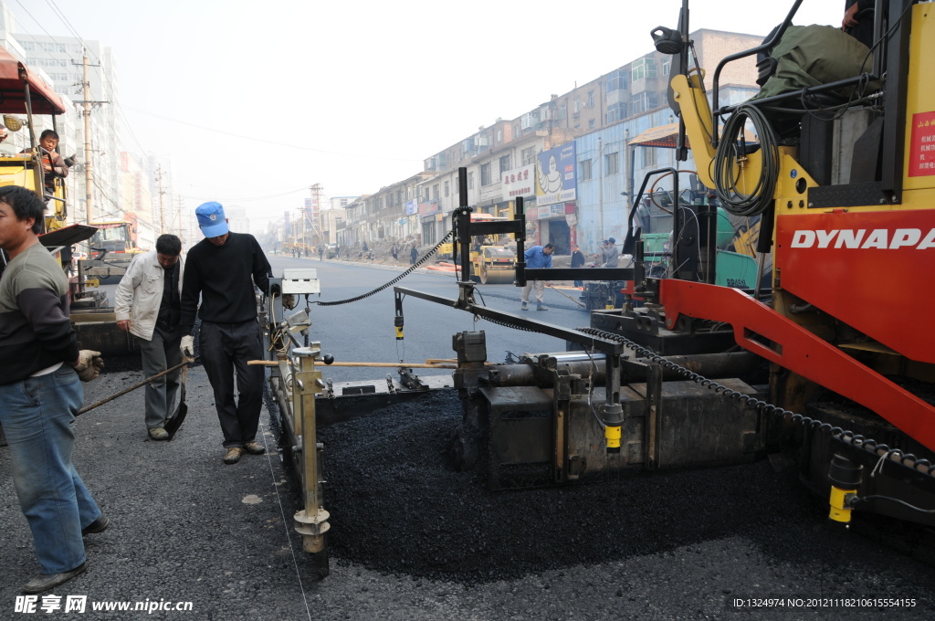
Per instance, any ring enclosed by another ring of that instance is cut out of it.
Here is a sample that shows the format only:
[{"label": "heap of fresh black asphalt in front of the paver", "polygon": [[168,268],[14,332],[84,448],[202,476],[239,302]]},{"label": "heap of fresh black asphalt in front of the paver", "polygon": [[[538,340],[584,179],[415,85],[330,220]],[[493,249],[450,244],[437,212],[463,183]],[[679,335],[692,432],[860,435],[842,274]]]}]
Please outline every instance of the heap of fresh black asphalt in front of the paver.
[{"label": "heap of fresh black asphalt in front of the paver", "polygon": [[[334,555],[474,584],[736,535],[768,543],[789,522],[827,527],[824,504],[768,462],[491,492],[445,455],[460,420],[448,393],[321,429]],[[810,554],[789,543],[789,555]]]}]

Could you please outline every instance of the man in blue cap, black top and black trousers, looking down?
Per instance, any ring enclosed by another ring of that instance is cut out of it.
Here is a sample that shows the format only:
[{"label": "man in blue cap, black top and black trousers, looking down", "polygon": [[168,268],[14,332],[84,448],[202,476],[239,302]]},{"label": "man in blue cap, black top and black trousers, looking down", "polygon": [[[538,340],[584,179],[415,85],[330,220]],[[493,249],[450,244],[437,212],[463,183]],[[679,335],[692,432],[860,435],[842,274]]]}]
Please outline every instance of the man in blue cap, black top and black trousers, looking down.
[{"label": "man in blue cap, black top and black trousers, looking down", "polygon": [[[224,463],[236,464],[246,451],[266,453],[256,441],[263,409],[264,368],[249,360],[263,357],[254,286],[266,291],[269,262],[249,233],[233,233],[221,203],[195,209],[205,238],[188,252],[181,290],[181,353],[194,354],[195,311],[201,317],[201,362],[214,391],[224,440]],[[198,307],[198,299],[201,307]],[[239,398],[235,399],[235,375]]]}]

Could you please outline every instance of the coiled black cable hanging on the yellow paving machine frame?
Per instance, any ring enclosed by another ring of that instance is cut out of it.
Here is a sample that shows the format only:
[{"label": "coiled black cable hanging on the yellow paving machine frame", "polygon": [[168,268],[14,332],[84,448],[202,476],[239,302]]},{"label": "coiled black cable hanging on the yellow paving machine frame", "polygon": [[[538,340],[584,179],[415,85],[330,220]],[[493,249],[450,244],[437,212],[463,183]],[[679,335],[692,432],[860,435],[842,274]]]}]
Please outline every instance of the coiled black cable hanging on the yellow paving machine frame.
[{"label": "coiled black cable hanging on the yellow paving machine frame", "polygon": [[[760,140],[760,170],[755,187],[741,192],[737,180],[748,162],[743,126],[750,119]],[[741,104],[724,124],[724,136],[714,155],[714,191],[724,209],[738,216],[754,216],[770,207],[779,178],[779,144],[763,111]],[[735,177],[735,171],[737,176]]]}]

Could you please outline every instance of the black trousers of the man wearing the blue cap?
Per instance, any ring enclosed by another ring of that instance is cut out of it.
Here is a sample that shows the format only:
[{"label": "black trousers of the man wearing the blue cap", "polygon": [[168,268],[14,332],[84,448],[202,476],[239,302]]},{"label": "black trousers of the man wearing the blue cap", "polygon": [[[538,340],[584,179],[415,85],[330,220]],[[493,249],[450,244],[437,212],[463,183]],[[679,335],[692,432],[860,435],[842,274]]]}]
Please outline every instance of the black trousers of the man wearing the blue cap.
[{"label": "black trousers of the man wearing the blue cap", "polygon": [[[263,358],[260,325],[253,319],[243,324],[212,324],[202,320],[199,342],[201,362],[214,390],[224,447],[243,446],[256,439],[263,408],[264,367],[249,367],[248,360]],[[236,402],[234,373],[237,372]]]}]

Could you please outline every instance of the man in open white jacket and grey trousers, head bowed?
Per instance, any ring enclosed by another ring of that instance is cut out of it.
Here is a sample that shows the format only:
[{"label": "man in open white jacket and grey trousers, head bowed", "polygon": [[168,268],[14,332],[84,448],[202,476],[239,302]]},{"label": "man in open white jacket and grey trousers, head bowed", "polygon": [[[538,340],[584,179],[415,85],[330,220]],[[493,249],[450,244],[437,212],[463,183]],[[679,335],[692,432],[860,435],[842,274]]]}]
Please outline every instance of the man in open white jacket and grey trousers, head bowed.
[{"label": "man in open white jacket and grey trousers, head bowed", "polygon": [[[152,377],[181,363],[181,240],[156,239],[156,250],[137,254],[116,293],[117,325],[137,337],[143,374]],[[165,419],[179,392],[181,369],[146,386],[146,428],[152,440],[168,440]]]}]

